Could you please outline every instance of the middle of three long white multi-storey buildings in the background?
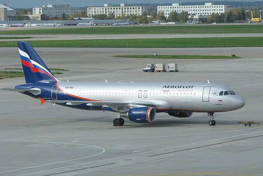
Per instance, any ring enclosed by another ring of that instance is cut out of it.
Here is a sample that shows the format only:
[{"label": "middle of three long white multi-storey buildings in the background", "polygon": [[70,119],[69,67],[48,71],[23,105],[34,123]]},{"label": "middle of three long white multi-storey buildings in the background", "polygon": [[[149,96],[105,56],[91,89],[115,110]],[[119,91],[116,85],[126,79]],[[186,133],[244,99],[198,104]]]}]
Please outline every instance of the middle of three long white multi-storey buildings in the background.
[{"label": "middle of three long white multi-storey buildings in the background", "polygon": [[120,6],[113,7],[112,4],[104,4],[103,7],[88,7],[87,15],[92,17],[97,14],[114,13],[115,16],[142,15],[145,12],[146,6],[129,6],[129,4],[120,4]]}]

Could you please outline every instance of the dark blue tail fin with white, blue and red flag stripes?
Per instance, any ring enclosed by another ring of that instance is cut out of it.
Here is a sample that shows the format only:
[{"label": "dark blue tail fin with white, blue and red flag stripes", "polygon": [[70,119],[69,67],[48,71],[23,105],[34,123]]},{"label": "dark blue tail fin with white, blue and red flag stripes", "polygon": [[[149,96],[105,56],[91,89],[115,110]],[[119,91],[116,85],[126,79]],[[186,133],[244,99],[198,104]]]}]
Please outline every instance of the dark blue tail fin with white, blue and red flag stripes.
[{"label": "dark blue tail fin with white, blue and red flag stripes", "polygon": [[28,42],[17,42],[26,83],[58,82]]}]

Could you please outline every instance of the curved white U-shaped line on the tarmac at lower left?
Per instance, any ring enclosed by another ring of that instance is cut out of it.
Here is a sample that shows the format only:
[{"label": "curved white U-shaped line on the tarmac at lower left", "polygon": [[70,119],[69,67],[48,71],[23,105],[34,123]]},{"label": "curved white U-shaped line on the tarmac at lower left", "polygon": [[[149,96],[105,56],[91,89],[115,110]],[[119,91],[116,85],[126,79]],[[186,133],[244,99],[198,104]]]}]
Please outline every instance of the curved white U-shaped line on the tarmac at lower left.
[{"label": "curved white U-shaped line on the tarmac at lower left", "polygon": [[[86,144],[78,144],[78,143],[62,143],[62,142],[41,142],[41,141],[0,141],[0,142],[36,142],[36,143],[61,143],[61,144],[72,144],[72,145],[82,145],[82,146],[91,146],[91,145],[86,145]],[[91,146],[91,147],[96,147],[96,148],[100,148],[103,151],[101,153],[105,152],[104,148],[98,147],[98,146]],[[84,159],[84,158],[90,158],[93,156],[97,156],[100,155],[101,153],[98,153],[96,155],[92,155],[92,156],[87,156],[87,157],[83,157],[83,158],[77,158],[77,159],[72,159],[72,160],[66,160],[66,161],[60,161],[60,162],[56,162],[56,163],[49,163],[49,164],[43,164],[43,165],[38,165],[38,166],[32,166],[32,167],[28,167],[28,168],[22,168],[22,169],[15,169],[15,170],[8,170],[8,171],[4,171],[4,172],[0,172],[0,173],[5,173],[5,172],[12,172],[12,171],[16,171],[16,170],[23,170],[23,169],[29,169],[29,168],[36,168],[39,166],[45,166],[45,165],[51,165],[51,164],[57,164],[57,163],[64,163],[64,162],[68,162],[68,161],[74,161],[74,160],[80,160],[80,159]]]}]

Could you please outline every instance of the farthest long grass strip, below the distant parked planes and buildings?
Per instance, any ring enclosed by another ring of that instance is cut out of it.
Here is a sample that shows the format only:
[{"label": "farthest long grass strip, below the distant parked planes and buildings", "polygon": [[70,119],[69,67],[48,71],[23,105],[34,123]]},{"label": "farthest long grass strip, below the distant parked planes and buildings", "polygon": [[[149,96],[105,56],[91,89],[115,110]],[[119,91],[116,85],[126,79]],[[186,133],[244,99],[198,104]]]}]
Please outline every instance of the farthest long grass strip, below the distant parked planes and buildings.
[{"label": "farthest long grass strip, below the distant parked planes and buildings", "polygon": [[173,25],[173,26],[118,26],[89,28],[56,28],[5,30],[0,34],[177,34],[177,33],[262,33],[263,25]]}]

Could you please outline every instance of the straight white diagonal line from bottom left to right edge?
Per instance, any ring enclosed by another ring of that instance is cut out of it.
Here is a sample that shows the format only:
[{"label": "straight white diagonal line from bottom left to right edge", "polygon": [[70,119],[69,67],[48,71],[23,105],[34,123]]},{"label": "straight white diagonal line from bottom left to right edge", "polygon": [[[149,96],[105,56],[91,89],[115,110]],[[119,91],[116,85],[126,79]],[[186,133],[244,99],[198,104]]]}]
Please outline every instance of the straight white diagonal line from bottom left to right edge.
[{"label": "straight white diagonal line from bottom left to right edge", "polygon": [[[46,172],[46,171],[51,171],[51,170],[64,169],[64,168],[69,168],[69,167],[74,167],[74,166],[79,166],[79,165],[84,165],[84,164],[97,163],[97,162],[101,162],[101,161],[107,161],[107,160],[112,160],[112,159],[117,159],[117,158],[124,158],[124,157],[128,157],[128,156],[140,155],[140,154],[144,154],[144,153],[151,153],[151,152],[156,152],[156,151],[168,150],[168,149],[172,149],[172,148],[190,146],[190,145],[195,145],[195,144],[199,144],[199,143],[205,143],[205,142],[211,142],[211,141],[218,141],[218,140],[221,140],[221,139],[228,139],[228,138],[233,138],[233,137],[238,137],[238,136],[244,136],[244,135],[248,135],[248,134],[255,134],[255,133],[260,133],[260,132],[263,132],[263,131],[257,131],[257,132],[253,132],[253,133],[240,134],[240,135],[236,135],[236,136],[229,136],[229,137],[225,137],[225,138],[213,139],[213,140],[209,140],[209,141],[202,141],[202,142],[197,142],[197,143],[191,143],[191,144],[186,144],[186,145],[182,145],[182,146],[176,146],[176,147],[170,147],[170,148],[163,148],[163,149],[154,150],[154,151],[136,153],[136,154],[132,154],[132,155],[119,156],[119,157],[115,157],[115,158],[108,158],[108,159],[104,159],[104,160],[98,160],[98,161],[93,161],[93,162],[88,162],[88,163],[82,163],[82,164],[76,164],[76,165],[71,165],[71,166],[65,166],[65,167],[61,167],[61,168],[55,168],[55,169],[49,169],[49,170],[42,170],[42,171],[38,171],[38,172],[31,172],[31,173],[22,174],[22,175],[30,175],[30,174],[36,174],[36,173]],[[2,173],[2,172],[0,172],[0,173]],[[16,176],[22,176],[22,175],[16,175]]]}]

